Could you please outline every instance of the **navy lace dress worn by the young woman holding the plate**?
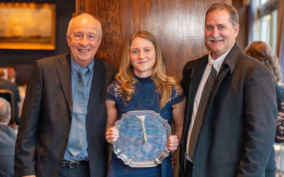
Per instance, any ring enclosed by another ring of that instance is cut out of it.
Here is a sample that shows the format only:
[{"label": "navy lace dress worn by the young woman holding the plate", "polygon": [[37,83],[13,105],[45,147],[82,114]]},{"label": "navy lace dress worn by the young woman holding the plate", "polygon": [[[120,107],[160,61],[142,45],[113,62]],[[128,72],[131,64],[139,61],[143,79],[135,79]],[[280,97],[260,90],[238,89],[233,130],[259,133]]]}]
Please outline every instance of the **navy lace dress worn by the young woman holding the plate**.
[{"label": "navy lace dress worn by the young woman holding the plate", "polygon": [[[172,96],[169,102],[161,110],[159,109],[159,95],[155,94],[155,85],[151,81],[151,76],[146,78],[139,78],[136,76],[138,84],[135,92],[127,104],[123,103],[123,95],[120,91],[120,85],[117,81],[112,81],[106,90],[105,99],[114,100],[115,107],[117,109],[117,118],[120,119],[122,114],[128,111],[142,111],[151,110],[156,113],[160,113],[161,117],[168,121],[168,124],[172,123],[172,105],[179,103],[184,98],[183,89],[180,87],[182,94],[179,93],[176,86],[172,86]],[[164,158],[162,164],[156,167],[147,168],[134,168],[129,165],[125,165],[120,158],[116,157],[116,154],[112,153],[112,160],[110,163],[108,177],[172,177],[172,161],[171,156]]]}]

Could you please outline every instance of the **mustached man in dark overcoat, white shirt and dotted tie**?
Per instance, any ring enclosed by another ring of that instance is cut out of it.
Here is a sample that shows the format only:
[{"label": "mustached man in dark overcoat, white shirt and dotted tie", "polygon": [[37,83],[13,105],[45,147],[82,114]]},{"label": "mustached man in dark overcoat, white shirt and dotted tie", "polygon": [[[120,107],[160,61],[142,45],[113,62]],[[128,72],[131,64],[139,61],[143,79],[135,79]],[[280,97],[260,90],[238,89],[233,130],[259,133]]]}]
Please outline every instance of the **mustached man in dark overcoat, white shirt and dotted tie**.
[{"label": "mustached man in dark overcoat, white shirt and dotted tie", "polygon": [[213,4],[206,13],[209,54],[189,61],[180,147],[180,176],[264,176],[276,132],[277,105],[269,70],[235,43],[235,8]]}]

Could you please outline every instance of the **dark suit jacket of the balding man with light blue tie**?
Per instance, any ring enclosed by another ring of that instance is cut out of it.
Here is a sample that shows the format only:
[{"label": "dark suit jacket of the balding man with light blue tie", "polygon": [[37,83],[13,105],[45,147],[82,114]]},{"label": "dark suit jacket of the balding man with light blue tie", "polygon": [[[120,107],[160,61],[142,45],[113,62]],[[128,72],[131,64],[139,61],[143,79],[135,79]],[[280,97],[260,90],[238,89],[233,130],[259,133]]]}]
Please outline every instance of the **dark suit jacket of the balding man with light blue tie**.
[{"label": "dark suit jacket of the balding man with light blue tie", "polygon": [[[117,72],[95,58],[86,116],[91,176],[105,176],[104,93]],[[57,176],[71,126],[70,53],[37,60],[27,86],[15,148],[15,176]]]}]

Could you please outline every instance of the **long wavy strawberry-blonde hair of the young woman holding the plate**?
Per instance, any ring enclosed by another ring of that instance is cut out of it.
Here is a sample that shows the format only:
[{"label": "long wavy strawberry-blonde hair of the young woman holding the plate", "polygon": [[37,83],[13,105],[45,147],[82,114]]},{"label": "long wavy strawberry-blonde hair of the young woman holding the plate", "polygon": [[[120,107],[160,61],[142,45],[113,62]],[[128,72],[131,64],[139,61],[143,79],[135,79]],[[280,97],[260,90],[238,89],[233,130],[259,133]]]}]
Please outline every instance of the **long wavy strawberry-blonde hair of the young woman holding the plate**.
[{"label": "long wavy strawberry-blonde hair of the young woman holding the plate", "polygon": [[[122,60],[120,63],[119,73],[115,76],[115,79],[119,81],[121,85],[121,92],[123,94],[123,102],[129,101],[134,94],[136,83],[138,82],[134,76],[133,66],[130,62],[129,47],[132,40],[135,37],[141,37],[147,39],[153,43],[156,50],[156,62],[152,69],[151,80],[155,83],[155,93],[160,93],[161,98],[160,109],[162,109],[169,101],[172,94],[172,85],[178,85],[178,79],[176,77],[167,76],[166,67],[164,64],[164,57],[162,48],[154,35],[148,31],[136,31],[133,32],[123,50]],[[180,88],[177,86],[178,91],[181,94]],[[158,98],[159,99],[159,98]]]}]

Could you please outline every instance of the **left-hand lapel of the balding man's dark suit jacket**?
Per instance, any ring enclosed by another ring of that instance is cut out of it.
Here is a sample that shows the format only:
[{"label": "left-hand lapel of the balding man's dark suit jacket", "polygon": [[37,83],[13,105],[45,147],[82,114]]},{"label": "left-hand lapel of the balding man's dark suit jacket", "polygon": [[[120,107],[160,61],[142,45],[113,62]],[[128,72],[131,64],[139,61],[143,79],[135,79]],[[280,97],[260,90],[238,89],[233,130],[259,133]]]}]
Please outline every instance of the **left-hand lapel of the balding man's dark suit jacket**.
[{"label": "left-hand lapel of the balding man's dark suit jacket", "polygon": [[72,112],[73,99],[72,99],[72,82],[71,82],[71,55],[68,53],[66,56],[62,57],[59,61],[62,66],[57,68],[57,74],[59,81],[67,100],[70,112]]}]

